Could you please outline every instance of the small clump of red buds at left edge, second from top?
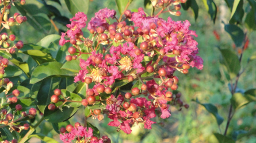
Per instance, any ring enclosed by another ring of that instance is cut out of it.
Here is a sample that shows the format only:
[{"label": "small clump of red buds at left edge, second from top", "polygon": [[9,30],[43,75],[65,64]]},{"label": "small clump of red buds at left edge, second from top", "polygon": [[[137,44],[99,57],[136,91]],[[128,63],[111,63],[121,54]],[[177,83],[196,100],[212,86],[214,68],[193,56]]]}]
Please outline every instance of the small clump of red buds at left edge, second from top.
[{"label": "small clump of red buds at left edge, second from top", "polygon": [[[16,49],[21,49],[24,45],[22,41],[15,41],[16,36],[11,34],[7,35],[7,33],[1,33],[0,34],[0,50],[4,50],[7,53],[14,54],[16,52]],[[13,46],[11,46],[13,42]]]}]

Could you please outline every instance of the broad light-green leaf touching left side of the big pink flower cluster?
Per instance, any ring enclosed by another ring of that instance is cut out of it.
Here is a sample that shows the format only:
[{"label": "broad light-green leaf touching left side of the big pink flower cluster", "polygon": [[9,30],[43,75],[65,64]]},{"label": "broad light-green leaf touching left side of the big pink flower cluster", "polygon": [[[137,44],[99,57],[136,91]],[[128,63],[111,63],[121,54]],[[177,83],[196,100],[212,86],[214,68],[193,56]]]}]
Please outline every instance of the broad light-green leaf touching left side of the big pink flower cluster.
[{"label": "broad light-green leaf touching left side of the big pink flower cluster", "polygon": [[30,79],[30,84],[35,84],[50,76],[64,77],[64,76],[75,76],[74,73],[61,69],[62,63],[60,62],[47,62],[40,66],[37,66],[33,71]]}]

